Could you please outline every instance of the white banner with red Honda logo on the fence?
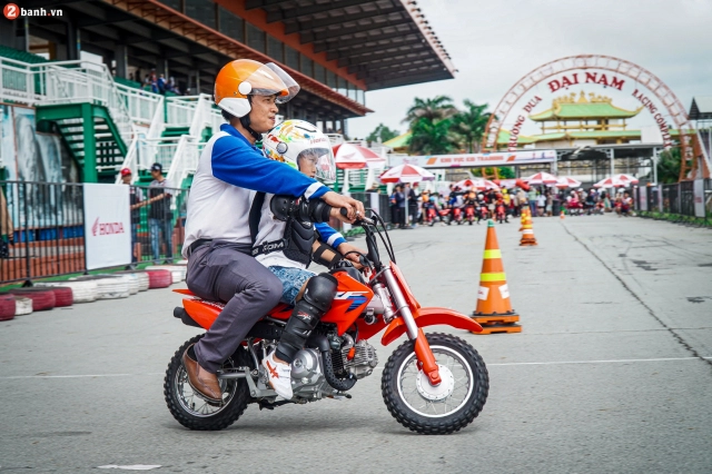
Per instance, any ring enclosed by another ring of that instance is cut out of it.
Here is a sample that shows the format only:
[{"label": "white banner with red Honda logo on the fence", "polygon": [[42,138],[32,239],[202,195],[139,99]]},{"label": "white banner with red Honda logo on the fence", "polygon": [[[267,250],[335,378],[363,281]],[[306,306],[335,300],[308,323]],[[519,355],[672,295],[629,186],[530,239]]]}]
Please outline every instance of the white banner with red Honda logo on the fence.
[{"label": "white banner with red Honda logo on the fence", "polygon": [[85,185],[87,269],[131,263],[129,187]]}]

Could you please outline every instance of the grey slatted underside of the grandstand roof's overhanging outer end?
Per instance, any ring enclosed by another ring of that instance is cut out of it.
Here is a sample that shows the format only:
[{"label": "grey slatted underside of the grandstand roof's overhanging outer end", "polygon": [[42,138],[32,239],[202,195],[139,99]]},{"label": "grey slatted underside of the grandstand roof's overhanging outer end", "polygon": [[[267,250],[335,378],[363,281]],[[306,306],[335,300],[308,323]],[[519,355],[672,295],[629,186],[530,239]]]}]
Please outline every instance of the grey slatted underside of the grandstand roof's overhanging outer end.
[{"label": "grey slatted underside of the grandstand roof's overhanging outer end", "polygon": [[449,55],[413,0],[246,0],[369,90],[452,79]]}]

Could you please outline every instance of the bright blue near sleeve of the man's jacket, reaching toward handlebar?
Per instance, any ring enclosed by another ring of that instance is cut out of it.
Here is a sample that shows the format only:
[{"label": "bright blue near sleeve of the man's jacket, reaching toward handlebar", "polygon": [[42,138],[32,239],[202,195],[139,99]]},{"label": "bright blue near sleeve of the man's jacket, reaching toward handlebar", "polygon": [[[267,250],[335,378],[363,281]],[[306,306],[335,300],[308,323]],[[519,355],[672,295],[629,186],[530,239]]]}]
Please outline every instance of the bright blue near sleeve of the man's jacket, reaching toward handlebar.
[{"label": "bright blue near sleeve of the man's jacket, reaching toward handlebar", "polygon": [[222,137],[212,145],[212,176],[240,188],[275,195],[324,196],[329,189],[288,165],[265,158],[246,146],[235,146],[233,137]]}]

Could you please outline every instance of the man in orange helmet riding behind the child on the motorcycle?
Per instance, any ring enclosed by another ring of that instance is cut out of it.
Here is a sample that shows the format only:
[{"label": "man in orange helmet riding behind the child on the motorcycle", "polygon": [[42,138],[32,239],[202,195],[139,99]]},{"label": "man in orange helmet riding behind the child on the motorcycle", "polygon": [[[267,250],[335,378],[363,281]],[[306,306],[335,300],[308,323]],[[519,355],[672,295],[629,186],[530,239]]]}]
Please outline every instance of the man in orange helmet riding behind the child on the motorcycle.
[{"label": "man in orange helmet riding behind the child on the motorcycle", "polygon": [[208,401],[221,399],[216,372],[283,293],[281,282],[250,256],[250,190],[306,201],[319,198],[347,209],[345,221],[364,213],[363,204],[329,191],[285,164],[265,159],[255,147],[261,134],[275,126],[277,105],[298,91],[299,86],[278,66],[249,59],[229,62],[216,78],[215,102],[228,124],[220,126],[198,160],[182,249],[188,258],[188,288],[204,299],[227,303],[205,337],[182,356],[190,385]]}]

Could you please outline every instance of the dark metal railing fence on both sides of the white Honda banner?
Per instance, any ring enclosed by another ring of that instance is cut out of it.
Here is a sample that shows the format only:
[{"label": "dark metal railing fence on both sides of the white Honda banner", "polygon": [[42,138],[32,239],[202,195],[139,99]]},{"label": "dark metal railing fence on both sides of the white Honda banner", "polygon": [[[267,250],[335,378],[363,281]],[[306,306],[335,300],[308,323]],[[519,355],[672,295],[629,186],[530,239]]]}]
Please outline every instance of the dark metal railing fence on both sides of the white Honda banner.
[{"label": "dark metal railing fence on both sides of the white Honda banner", "polygon": [[[188,190],[160,189],[170,200],[148,203],[155,188],[131,186],[135,264],[180,258]],[[0,181],[0,283],[87,270],[83,184]]]}]

